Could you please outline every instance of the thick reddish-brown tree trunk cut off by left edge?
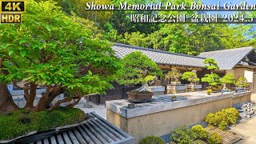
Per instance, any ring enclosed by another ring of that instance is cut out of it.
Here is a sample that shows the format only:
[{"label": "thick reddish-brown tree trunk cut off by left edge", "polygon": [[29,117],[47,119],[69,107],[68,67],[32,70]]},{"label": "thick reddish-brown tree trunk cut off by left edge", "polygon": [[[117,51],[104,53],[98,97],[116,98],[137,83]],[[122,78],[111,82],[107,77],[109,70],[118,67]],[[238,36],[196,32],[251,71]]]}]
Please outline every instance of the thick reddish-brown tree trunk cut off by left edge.
[{"label": "thick reddish-brown tree trunk cut off by left edge", "polygon": [[[6,70],[1,70],[3,59],[0,58],[0,73],[8,74]],[[8,90],[6,84],[0,83],[0,114],[6,114],[13,110],[18,110],[18,106],[14,103],[14,100]]]}]

